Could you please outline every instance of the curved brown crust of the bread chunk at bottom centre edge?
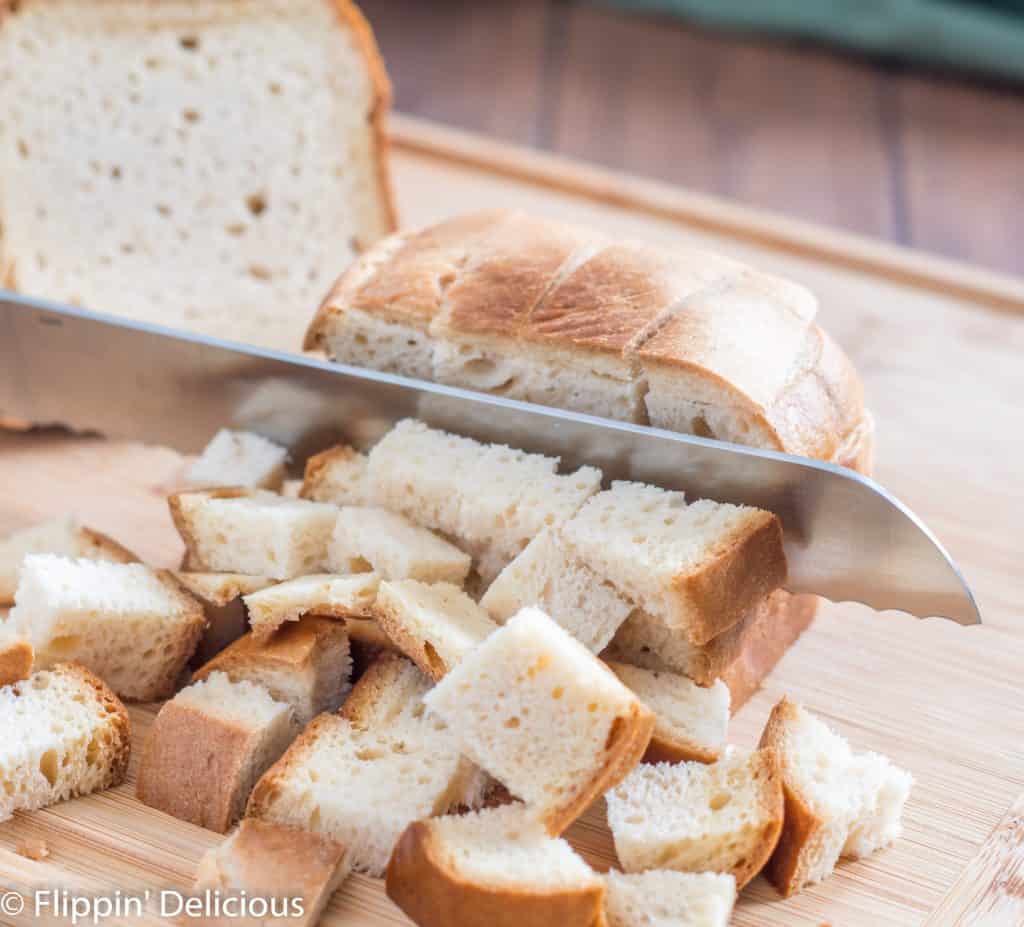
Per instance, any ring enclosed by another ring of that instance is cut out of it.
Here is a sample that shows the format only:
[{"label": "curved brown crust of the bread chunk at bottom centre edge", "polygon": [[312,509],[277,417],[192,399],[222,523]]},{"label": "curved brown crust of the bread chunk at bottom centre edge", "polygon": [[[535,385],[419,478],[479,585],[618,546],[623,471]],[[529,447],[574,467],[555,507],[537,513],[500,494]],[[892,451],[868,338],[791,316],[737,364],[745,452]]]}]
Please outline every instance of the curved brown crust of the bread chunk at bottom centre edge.
[{"label": "curved brown crust of the bread chunk at bottom centre edge", "polygon": [[450,862],[430,821],[409,826],[386,876],[388,897],[420,927],[597,927],[604,886],[531,891],[470,882]]}]

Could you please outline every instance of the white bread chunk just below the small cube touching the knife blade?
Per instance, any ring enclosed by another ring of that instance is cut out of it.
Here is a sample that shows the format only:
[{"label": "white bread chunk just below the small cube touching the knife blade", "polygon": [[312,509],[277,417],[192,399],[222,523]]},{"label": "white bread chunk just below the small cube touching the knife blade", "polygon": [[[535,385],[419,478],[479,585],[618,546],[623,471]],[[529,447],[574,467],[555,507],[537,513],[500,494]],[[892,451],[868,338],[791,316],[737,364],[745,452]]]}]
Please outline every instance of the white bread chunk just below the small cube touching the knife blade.
[{"label": "white bread chunk just below the small cube touching the knife blade", "polygon": [[176,493],[167,500],[189,572],[248,573],[288,580],[318,573],[338,509],[265,490]]}]

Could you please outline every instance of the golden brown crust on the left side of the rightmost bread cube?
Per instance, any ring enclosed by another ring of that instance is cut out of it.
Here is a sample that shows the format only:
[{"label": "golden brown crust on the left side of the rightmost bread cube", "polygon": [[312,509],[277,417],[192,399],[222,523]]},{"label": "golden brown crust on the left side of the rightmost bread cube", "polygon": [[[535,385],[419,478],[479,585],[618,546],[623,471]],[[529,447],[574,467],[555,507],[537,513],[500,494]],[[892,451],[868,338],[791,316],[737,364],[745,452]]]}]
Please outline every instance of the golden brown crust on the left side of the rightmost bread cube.
[{"label": "golden brown crust on the left side of the rightmost bread cube", "polygon": [[804,849],[824,826],[803,795],[792,787],[786,775],[785,726],[797,720],[797,706],[785,696],[775,705],[761,734],[760,747],[773,750],[779,757],[784,796],[784,823],[778,844],[765,871],[768,880],[784,897],[799,891],[806,880],[808,861]]}]

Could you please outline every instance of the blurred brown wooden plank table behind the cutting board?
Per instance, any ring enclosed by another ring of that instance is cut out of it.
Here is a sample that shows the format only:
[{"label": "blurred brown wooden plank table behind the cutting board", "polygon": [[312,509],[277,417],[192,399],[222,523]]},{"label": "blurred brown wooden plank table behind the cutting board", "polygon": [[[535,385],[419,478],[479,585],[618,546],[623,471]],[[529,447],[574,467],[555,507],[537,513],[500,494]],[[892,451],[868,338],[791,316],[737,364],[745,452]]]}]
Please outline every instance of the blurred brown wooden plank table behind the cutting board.
[{"label": "blurred brown wooden plank table behind the cutting board", "polygon": [[396,109],[1024,273],[1024,88],[579,0],[360,0]]}]

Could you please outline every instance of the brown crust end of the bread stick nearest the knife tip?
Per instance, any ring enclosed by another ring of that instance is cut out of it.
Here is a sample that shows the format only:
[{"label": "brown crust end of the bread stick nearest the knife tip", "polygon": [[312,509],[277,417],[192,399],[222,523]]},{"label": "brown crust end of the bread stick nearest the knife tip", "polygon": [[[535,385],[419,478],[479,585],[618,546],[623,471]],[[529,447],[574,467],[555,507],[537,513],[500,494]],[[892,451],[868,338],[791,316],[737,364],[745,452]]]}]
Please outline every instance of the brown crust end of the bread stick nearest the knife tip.
[{"label": "brown crust end of the bread stick nearest the knife tip", "polygon": [[697,645],[708,643],[785,583],[786,575],[781,522],[770,512],[753,512],[721,539],[698,571],[673,583],[675,593],[691,602],[698,616],[687,637]]}]

